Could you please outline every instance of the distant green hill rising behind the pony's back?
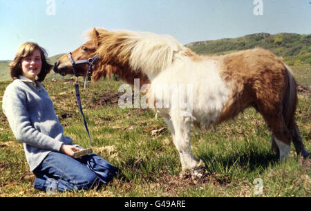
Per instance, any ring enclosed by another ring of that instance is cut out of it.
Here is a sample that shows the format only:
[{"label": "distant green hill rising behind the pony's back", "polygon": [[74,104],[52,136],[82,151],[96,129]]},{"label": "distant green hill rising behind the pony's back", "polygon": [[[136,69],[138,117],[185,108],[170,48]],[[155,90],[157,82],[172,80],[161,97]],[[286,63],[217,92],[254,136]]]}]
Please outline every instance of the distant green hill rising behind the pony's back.
[{"label": "distant green hill rising behind the pony's back", "polygon": [[186,45],[198,54],[227,54],[261,47],[271,50],[290,66],[311,64],[311,34],[249,34],[233,39],[198,41]]}]

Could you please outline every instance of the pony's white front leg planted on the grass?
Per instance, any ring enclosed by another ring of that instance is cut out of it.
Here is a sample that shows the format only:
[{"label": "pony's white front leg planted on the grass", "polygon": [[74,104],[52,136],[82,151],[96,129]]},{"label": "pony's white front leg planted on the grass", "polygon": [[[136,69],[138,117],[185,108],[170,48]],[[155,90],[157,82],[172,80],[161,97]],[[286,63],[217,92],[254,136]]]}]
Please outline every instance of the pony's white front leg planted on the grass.
[{"label": "pony's white front leg planted on the grass", "polygon": [[171,112],[173,143],[180,155],[182,173],[189,170],[191,173],[195,174],[195,176],[200,176],[196,175],[196,170],[204,168],[205,163],[202,160],[198,161],[191,152],[191,121],[191,117],[182,116],[178,110]]}]

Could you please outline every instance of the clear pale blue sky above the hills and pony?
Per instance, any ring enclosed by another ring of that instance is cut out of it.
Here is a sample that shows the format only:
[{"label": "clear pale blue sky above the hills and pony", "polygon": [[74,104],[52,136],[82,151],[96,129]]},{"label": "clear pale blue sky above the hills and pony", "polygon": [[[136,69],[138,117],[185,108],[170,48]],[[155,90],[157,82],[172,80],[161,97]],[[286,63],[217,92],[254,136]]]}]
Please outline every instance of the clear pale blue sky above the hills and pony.
[{"label": "clear pale blue sky above the hills and pony", "polygon": [[86,31],[147,31],[180,43],[246,34],[311,33],[311,0],[0,0],[0,60],[35,41],[48,56],[75,50]]}]

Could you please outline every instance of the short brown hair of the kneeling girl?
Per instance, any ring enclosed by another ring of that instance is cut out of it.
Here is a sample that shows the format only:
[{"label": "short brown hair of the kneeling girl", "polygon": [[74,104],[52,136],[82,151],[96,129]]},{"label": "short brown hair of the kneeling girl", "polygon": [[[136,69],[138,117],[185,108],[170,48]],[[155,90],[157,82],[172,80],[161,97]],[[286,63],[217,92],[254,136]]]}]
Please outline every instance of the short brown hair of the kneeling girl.
[{"label": "short brown hair of the kneeling girl", "polygon": [[21,60],[30,57],[35,50],[39,50],[41,54],[42,67],[40,73],[37,75],[38,81],[44,81],[46,75],[53,68],[47,61],[48,54],[44,48],[39,46],[37,43],[26,42],[21,44],[17,49],[15,59],[10,63],[10,74],[13,80],[18,79],[21,75]]}]

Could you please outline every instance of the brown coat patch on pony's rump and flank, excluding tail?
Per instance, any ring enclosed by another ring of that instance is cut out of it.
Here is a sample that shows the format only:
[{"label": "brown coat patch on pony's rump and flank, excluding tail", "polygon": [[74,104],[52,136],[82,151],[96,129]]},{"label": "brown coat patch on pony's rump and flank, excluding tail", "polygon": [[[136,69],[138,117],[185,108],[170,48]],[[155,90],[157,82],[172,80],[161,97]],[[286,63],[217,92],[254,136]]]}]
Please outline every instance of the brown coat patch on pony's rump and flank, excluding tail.
[{"label": "brown coat patch on pony's rump and flank, excluding tail", "polygon": [[236,116],[248,106],[260,107],[265,113],[274,112],[283,100],[285,81],[288,81],[288,70],[282,60],[261,48],[228,54],[222,59],[220,76],[232,90],[232,96],[218,122]]}]

